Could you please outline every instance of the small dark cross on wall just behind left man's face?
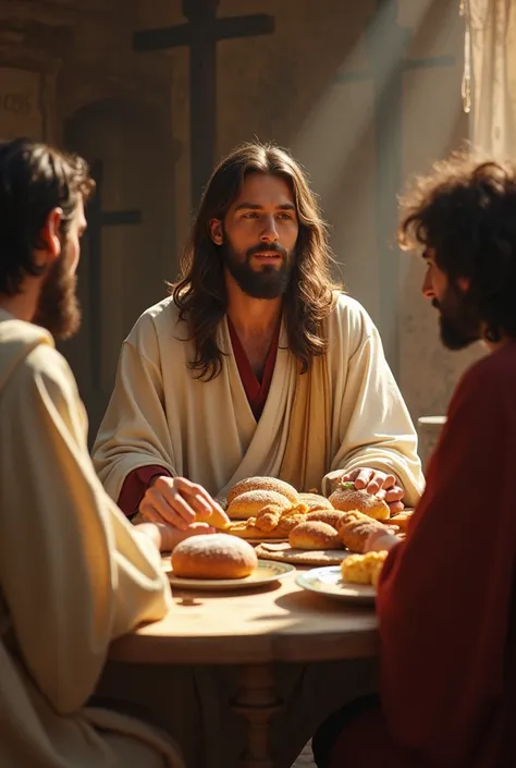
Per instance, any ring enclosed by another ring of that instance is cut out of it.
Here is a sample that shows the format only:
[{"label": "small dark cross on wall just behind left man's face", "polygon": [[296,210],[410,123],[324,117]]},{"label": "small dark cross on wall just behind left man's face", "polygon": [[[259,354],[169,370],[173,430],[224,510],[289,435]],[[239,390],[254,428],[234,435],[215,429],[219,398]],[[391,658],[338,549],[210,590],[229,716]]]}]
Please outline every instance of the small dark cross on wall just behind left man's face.
[{"label": "small dark cross on wall just behind left man's face", "polygon": [[125,227],[142,223],[139,210],[102,210],[102,162],[91,164],[91,176],[97,184],[95,195],[88,203],[87,236],[89,242],[89,345],[91,361],[91,387],[101,389],[102,359],[102,228]]}]

